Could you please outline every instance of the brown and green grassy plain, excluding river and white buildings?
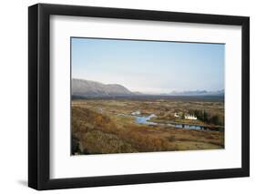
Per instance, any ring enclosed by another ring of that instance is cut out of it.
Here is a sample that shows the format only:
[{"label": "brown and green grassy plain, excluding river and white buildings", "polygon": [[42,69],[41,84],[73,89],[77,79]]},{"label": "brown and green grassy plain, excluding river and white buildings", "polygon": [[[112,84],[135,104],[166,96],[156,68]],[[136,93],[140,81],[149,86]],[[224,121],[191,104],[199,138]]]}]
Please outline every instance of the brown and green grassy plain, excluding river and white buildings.
[{"label": "brown and green grassy plain, excluding river and white buildings", "polygon": [[[136,122],[151,114],[154,125]],[[180,117],[174,117],[178,113]],[[197,114],[188,120],[182,114]],[[175,128],[169,123],[221,130]],[[224,148],[224,102],[189,99],[73,99],[72,154],[132,153]]]}]

